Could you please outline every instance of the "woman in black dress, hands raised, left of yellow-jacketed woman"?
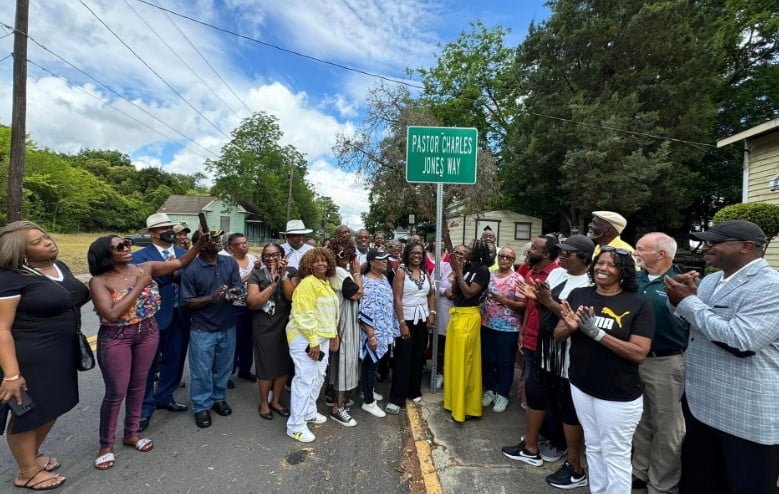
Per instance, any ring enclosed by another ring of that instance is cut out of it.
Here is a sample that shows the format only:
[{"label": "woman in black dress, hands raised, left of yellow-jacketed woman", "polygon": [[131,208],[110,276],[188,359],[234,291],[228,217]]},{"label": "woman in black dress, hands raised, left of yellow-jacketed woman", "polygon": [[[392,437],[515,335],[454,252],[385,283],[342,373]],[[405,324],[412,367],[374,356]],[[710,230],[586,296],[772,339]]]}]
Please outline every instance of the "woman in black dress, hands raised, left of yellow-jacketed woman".
[{"label": "woman in black dress, hands raised, left of yellow-jacketed woman", "polygon": [[[260,417],[270,420],[274,411],[282,417],[289,416],[279,398],[292,369],[286,327],[297,270],[287,267],[284,249],[275,243],[262,249],[262,264],[249,277],[246,307],[252,311],[254,369],[260,388],[257,411]],[[273,398],[268,402],[271,391]]]}]

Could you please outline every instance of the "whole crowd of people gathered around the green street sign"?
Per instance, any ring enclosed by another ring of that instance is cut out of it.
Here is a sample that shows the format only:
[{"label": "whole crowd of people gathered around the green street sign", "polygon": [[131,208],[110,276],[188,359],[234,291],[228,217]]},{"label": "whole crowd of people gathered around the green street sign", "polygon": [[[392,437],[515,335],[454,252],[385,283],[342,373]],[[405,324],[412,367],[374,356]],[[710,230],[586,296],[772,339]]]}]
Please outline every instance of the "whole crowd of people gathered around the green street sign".
[{"label": "whole crowd of people gathered around the green street sign", "polygon": [[[309,443],[311,424],[358,425],[355,400],[376,418],[421,402],[432,358],[456,423],[505,412],[521,364],[525,426],[502,452],[533,466],[564,457],[553,487],[776,492],[779,274],[753,223],[692,235],[720,269],[702,280],[674,265],[668,235],[648,233],[634,250],[611,211],[593,212],[587,235],[538,236],[519,253],[487,228],[443,256],[438,285],[434,246],[418,236],[371,242],[342,225],[319,247],[292,220],[286,241],[258,258],[242,233],[191,232],[164,213],[146,226],[152,244],[135,252],[116,235],[90,245],[88,287],[40,226],[0,229],[0,432],[18,487],[65,481],[41,449],[78,402],[80,308],[91,298],[105,383],[99,470],[115,466],[123,403],[122,443],[145,453],[157,409],[189,410],[201,428],[211,412],[232,414],[236,376],[257,383],[261,419],[282,417],[290,438]],[[174,399],[187,360],[190,405]],[[385,400],[375,384],[388,378]]]}]

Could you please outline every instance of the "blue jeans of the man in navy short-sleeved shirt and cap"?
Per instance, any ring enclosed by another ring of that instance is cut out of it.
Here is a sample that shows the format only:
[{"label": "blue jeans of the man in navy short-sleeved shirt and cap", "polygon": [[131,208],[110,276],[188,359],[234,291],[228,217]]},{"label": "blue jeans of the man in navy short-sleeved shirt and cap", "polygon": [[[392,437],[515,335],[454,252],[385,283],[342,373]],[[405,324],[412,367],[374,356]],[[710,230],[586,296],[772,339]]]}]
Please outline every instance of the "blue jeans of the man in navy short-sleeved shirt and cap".
[{"label": "blue jeans of the man in navy short-sleeved shirt and cap", "polygon": [[210,410],[227,396],[233,370],[235,326],[222,331],[194,329],[189,335],[189,394],[192,411]]}]

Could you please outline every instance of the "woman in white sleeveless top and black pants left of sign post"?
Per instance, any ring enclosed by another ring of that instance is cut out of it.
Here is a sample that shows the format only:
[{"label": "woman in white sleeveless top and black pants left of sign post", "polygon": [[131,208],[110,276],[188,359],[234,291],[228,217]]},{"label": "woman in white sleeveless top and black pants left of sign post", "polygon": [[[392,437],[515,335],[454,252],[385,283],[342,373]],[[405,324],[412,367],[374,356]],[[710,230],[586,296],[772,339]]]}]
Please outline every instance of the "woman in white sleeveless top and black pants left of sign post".
[{"label": "woman in white sleeveless top and black pants left of sign post", "polygon": [[386,411],[397,414],[406,398],[422,401],[422,368],[427,349],[427,329],[435,325],[435,290],[425,268],[425,248],[409,242],[402,264],[395,272],[392,292],[395,314],[400,321],[400,338],[395,342],[392,387]]}]

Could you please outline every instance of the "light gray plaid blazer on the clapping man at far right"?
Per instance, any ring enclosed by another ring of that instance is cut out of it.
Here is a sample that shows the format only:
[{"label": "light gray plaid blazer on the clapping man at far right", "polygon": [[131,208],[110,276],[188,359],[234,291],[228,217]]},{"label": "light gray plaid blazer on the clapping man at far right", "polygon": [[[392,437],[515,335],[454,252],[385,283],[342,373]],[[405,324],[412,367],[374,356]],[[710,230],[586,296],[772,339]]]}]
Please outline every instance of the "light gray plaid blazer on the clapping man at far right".
[{"label": "light gray plaid blazer on the clapping man at far right", "polygon": [[734,436],[779,444],[779,273],[758,259],[715,294],[720,280],[722,272],[706,276],[675,311],[690,325],[690,411]]}]

